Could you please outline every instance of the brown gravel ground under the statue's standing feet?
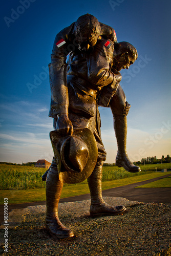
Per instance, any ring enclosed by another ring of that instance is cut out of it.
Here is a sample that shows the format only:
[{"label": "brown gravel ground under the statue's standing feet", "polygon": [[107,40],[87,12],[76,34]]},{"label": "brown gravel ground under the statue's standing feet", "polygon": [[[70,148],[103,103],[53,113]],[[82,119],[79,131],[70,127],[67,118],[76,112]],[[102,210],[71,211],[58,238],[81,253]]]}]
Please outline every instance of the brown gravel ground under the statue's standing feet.
[{"label": "brown gravel ground under the statue's standing feet", "polygon": [[75,237],[56,240],[45,229],[46,206],[14,209],[9,214],[8,252],[2,255],[171,255],[171,204],[139,203],[105,197],[111,205],[125,205],[123,215],[90,218],[90,200],[59,204],[59,218]]}]

